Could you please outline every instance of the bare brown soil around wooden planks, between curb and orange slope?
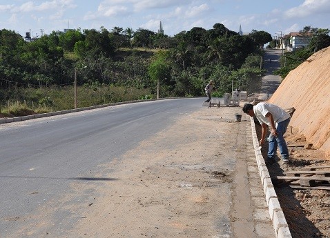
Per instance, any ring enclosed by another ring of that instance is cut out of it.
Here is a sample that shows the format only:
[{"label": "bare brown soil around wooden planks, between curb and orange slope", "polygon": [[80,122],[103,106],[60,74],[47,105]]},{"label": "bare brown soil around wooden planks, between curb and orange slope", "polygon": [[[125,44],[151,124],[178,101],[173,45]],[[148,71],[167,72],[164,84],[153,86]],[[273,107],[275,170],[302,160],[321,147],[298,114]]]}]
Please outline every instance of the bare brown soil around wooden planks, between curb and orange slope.
[{"label": "bare brown soil around wooden planks, between curb and orange slope", "polygon": [[[260,126],[256,125],[256,130],[260,135]],[[282,165],[266,161],[272,178],[305,167],[330,166],[330,159],[325,157],[324,151],[307,146],[306,138],[297,129],[289,126],[285,139],[291,163]],[[267,146],[262,148],[264,158],[267,150]],[[330,190],[294,189],[278,181],[273,184],[293,238],[330,238]]]}]

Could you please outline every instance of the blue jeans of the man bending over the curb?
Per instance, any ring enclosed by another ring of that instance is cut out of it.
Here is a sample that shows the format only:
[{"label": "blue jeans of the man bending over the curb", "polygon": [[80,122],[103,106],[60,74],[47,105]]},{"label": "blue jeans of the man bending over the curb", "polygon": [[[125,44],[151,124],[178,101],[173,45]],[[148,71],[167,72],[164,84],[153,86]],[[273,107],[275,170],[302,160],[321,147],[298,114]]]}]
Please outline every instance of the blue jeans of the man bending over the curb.
[{"label": "blue jeans of the man bending over the curb", "polygon": [[278,150],[278,148],[280,149],[280,154],[281,154],[282,159],[289,158],[289,150],[287,147],[287,143],[285,142],[284,137],[283,137],[284,133],[287,131],[289,122],[290,122],[290,118],[278,123],[278,126],[276,127],[276,132],[278,132],[277,137],[273,137],[273,135],[269,135],[269,138],[268,138],[269,147],[268,147],[268,154],[267,154],[269,159],[275,159],[276,150]]}]

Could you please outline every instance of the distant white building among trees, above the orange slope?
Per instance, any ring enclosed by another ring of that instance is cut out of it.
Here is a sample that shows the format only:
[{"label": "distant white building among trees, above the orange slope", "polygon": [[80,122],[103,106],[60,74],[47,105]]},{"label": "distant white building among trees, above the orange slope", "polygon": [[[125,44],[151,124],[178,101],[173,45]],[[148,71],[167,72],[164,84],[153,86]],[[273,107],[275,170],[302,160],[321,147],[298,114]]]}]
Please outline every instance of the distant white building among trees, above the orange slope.
[{"label": "distant white building among trees, above the orange slope", "polygon": [[283,37],[283,43],[288,51],[294,51],[308,46],[312,34],[302,34],[300,32],[290,32]]}]

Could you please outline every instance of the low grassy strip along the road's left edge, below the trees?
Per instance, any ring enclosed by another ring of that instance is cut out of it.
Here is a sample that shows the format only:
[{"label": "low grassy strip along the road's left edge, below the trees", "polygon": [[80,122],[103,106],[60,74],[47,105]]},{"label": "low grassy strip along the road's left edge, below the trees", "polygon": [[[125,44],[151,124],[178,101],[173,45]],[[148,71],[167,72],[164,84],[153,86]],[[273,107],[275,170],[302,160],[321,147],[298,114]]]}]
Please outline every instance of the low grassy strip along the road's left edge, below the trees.
[{"label": "low grassy strip along the road's left edge, below the trees", "polygon": [[[75,90],[73,86],[61,88],[52,86],[37,89],[19,88],[17,90],[19,92],[10,94],[17,95],[17,97],[12,97],[9,100],[1,99],[0,117],[22,117],[75,108]],[[0,93],[0,95],[6,94]],[[89,85],[77,87],[77,108],[152,98],[154,96],[148,88]]]}]

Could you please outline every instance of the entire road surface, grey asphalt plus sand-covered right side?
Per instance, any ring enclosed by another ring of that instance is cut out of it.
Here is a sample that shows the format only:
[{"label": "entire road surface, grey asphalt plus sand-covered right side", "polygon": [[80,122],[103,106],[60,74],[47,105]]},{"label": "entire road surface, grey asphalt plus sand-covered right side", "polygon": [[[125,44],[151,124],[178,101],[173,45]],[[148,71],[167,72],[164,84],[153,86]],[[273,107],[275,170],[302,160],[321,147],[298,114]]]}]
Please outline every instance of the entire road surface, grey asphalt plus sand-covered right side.
[{"label": "entire road surface, grey asphalt plus sand-covered right side", "polygon": [[275,237],[249,119],[202,101],[0,125],[0,237]]}]

